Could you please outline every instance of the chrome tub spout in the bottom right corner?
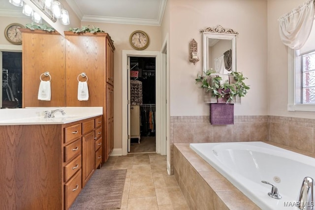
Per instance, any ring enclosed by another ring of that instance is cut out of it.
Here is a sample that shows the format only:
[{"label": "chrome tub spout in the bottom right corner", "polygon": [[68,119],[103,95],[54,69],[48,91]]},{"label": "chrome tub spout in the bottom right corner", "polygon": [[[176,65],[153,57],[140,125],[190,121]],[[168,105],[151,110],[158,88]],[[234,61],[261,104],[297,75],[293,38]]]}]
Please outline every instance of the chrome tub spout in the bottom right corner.
[{"label": "chrome tub spout in the bottom right corner", "polygon": [[313,179],[310,177],[304,178],[300,190],[298,208],[300,210],[313,210],[314,197],[313,197]]}]

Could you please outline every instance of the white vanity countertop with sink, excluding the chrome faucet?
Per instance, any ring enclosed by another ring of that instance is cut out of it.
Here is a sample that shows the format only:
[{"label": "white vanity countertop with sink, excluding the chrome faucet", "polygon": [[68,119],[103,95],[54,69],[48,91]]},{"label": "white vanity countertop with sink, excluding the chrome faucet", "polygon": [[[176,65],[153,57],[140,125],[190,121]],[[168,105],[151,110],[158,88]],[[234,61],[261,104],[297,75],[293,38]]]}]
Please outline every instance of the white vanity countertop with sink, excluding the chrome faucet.
[{"label": "white vanity countertop with sink, excluding the chrome faucet", "polygon": [[[44,118],[45,111],[62,109],[55,118]],[[93,118],[103,114],[103,107],[36,107],[23,109],[0,109],[0,125],[66,124]]]}]

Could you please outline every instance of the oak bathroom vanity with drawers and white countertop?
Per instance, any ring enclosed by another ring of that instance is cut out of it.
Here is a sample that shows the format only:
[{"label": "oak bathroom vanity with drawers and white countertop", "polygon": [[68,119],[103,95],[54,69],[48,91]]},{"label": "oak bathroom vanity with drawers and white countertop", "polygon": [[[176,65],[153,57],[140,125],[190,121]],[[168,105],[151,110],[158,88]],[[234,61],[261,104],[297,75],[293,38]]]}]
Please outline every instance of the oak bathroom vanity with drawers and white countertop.
[{"label": "oak bathroom vanity with drawers and white countertop", "polygon": [[[56,109],[66,114],[44,118]],[[0,209],[69,209],[100,166],[102,113],[102,107],[0,110]]]}]

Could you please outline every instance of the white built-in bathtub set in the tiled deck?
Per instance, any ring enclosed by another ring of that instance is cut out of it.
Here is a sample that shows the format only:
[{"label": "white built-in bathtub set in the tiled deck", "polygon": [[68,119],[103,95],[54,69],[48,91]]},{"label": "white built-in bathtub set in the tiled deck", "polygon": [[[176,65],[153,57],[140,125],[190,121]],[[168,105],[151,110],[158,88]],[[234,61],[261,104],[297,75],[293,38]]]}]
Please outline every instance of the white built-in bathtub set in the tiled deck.
[{"label": "white built-in bathtub set in the tiled deck", "polygon": [[[315,158],[263,142],[195,143],[189,147],[263,210],[297,210],[303,179],[315,179]],[[282,199],[269,197],[271,185],[262,180],[275,184]]]}]

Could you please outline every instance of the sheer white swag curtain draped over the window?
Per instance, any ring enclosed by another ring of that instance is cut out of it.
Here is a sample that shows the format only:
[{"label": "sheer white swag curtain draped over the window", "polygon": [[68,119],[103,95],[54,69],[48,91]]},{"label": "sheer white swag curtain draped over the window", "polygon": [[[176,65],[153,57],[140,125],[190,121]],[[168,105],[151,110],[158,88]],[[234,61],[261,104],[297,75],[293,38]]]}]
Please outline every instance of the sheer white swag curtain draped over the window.
[{"label": "sheer white swag curtain draped over the window", "polygon": [[314,8],[314,0],[308,0],[279,18],[280,38],[285,45],[295,50],[303,47],[312,30]]}]

